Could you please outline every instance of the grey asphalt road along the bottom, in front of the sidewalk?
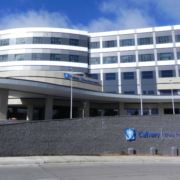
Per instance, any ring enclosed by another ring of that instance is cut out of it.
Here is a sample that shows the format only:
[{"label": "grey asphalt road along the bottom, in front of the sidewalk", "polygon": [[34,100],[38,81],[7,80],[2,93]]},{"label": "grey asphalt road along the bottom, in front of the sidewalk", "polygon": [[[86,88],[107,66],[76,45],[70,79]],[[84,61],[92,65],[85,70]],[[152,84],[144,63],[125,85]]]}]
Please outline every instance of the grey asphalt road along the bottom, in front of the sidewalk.
[{"label": "grey asphalt road along the bottom, in front of the sidewalk", "polygon": [[64,163],[0,166],[0,180],[179,180],[175,163]]}]

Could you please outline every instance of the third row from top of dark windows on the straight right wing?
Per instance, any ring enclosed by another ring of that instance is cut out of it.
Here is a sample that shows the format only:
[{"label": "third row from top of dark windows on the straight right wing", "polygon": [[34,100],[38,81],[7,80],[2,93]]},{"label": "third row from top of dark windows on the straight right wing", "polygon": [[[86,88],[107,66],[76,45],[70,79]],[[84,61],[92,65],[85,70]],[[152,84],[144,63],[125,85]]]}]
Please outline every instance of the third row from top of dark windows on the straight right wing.
[{"label": "third row from top of dark windows on the straight right wing", "polygon": [[[135,72],[124,72],[122,73],[123,79],[130,80],[135,79]],[[88,77],[93,79],[98,79],[98,74],[89,74]],[[174,77],[173,70],[162,70],[161,77]],[[154,73],[153,71],[142,71],[141,72],[142,79],[153,79]],[[105,73],[105,80],[116,80],[116,73]]]}]

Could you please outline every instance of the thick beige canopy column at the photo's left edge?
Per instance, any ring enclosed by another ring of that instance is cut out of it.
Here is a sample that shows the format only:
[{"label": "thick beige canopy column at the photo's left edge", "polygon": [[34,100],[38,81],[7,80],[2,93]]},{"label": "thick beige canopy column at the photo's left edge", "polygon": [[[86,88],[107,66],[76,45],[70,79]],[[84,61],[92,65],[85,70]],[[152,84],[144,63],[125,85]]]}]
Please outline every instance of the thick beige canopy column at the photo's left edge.
[{"label": "thick beige canopy column at the photo's left edge", "polygon": [[0,120],[7,119],[9,90],[0,89]]}]

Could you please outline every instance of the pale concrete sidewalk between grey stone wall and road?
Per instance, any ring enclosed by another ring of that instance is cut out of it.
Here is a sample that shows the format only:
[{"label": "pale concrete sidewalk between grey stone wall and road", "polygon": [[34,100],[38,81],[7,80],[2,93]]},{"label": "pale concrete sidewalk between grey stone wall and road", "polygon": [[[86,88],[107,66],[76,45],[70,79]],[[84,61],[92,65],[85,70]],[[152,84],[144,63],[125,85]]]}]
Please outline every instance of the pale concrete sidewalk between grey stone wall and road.
[{"label": "pale concrete sidewalk between grey stone wall and road", "polygon": [[27,156],[0,157],[0,165],[49,164],[49,163],[180,163],[180,157],[170,156]]}]

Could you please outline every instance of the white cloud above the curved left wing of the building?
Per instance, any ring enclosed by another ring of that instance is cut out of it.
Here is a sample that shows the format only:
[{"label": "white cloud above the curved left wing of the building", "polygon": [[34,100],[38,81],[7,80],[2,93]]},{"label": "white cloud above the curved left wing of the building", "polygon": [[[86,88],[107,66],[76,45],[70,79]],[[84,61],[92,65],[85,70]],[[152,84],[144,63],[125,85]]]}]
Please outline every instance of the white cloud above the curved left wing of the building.
[{"label": "white cloud above the curved left wing of the building", "polygon": [[70,27],[70,20],[60,13],[47,11],[28,11],[27,13],[15,13],[4,15],[0,18],[0,29],[12,29],[21,27]]}]

